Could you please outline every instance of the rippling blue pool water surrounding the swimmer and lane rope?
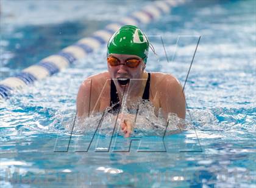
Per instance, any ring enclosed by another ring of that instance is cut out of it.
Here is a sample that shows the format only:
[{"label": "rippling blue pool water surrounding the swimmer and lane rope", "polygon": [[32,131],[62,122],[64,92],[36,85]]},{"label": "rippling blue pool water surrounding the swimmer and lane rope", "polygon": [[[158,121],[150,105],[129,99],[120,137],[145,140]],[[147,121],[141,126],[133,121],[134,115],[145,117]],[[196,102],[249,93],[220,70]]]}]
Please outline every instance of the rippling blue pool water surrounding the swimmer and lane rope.
[{"label": "rippling blue pool water surrounding the swimmer and lane rope", "polygon": [[[45,1],[1,1],[1,79],[118,21],[116,15],[151,3],[58,2],[48,7]],[[146,69],[171,73],[182,84],[201,36],[185,86],[189,129],[165,136],[166,152],[137,152],[137,142],[130,152],[94,152],[102,149],[95,140],[88,152],[77,152],[86,150],[91,132],[73,135],[68,152],[58,152],[69,143],[65,127],[73,124],[80,83],[106,69],[105,46],[1,102],[1,187],[255,187],[255,6],[255,1],[191,1],[141,25],[158,55],[151,52]],[[96,138],[104,143],[110,136]],[[161,138],[141,133],[144,143],[157,149]]]}]

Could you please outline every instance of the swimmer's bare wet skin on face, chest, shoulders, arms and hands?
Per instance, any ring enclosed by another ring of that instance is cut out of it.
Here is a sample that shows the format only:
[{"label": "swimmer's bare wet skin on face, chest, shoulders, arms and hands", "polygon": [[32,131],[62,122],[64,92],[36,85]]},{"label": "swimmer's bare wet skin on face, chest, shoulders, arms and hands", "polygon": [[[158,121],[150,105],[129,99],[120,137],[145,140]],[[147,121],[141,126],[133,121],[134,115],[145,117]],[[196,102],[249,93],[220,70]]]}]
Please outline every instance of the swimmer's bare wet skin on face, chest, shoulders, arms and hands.
[{"label": "swimmer's bare wet skin on face, chest, shoulders, arms and hands", "polygon": [[[143,59],[136,55],[111,54],[119,59],[120,65],[111,66],[107,63],[108,72],[90,76],[80,86],[77,94],[77,116],[86,117],[96,112],[104,112],[110,105],[110,79],[113,79],[118,97],[122,100],[123,93],[127,93],[132,104],[136,99],[141,98],[146,86],[148,73],[144,70],[146,65]],[[130,58],[140,59],[141,62],[136,68],[126,65],[126,60]],[[118,81],[123,79],[123,83]],[[127,81],[129,80],[129,81]],[[174,76],[166,73],[151,73],[149,101],[152,102],[155,115],[158,109],[162,108],[163,115],[168,118],[169,113],[176,113],[179,118],[185,118],[185,95],[182,86]],[[121,119],[121,129],[125,137],[130,136],[134,127],[135,118],[133,115],[118,115]]]}]

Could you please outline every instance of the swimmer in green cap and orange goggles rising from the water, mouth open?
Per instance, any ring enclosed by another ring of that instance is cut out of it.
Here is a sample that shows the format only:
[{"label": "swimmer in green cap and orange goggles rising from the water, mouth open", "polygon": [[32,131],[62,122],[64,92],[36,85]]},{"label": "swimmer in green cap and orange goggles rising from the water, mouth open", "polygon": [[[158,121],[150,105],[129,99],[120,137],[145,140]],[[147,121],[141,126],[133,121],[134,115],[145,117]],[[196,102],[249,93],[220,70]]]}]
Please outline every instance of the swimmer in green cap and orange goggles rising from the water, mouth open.
[{"label": "swimmer in green cap and orange goggles rising from the water, mouth open", "polygon": [[108,40],[107,71],[82,82],[77,94],[77,116],[85,118],[96,112],[108,112],[121,119],[121,130],[129,137],[135,126],[135,115],[119,114],[124,93],[126,106],[138,99],[150,101],[155,115],[161,108],[163,116],[176,113],[185,119],[185,95],[179,81],[172,75],[146,72],[148,37],[134,25],[124,25]]}]

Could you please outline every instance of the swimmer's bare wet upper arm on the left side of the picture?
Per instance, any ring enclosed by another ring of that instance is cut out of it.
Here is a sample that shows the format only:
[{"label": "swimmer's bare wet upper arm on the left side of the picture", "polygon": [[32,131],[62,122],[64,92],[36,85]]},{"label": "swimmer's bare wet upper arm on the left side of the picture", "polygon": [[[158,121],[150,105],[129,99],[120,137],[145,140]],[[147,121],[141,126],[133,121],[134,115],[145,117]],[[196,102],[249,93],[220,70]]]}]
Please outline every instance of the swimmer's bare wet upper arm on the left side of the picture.
[{"label": "swimmer's bare wet upper arm on the left side of the picture", "polygon": [[85,79],[82,82],[76,99],[76,109],[78,117],[87,117],[92,112],[98,112],[99,105],[96,105],[98,101],[98,93],[91,84],[91,79]]}]

